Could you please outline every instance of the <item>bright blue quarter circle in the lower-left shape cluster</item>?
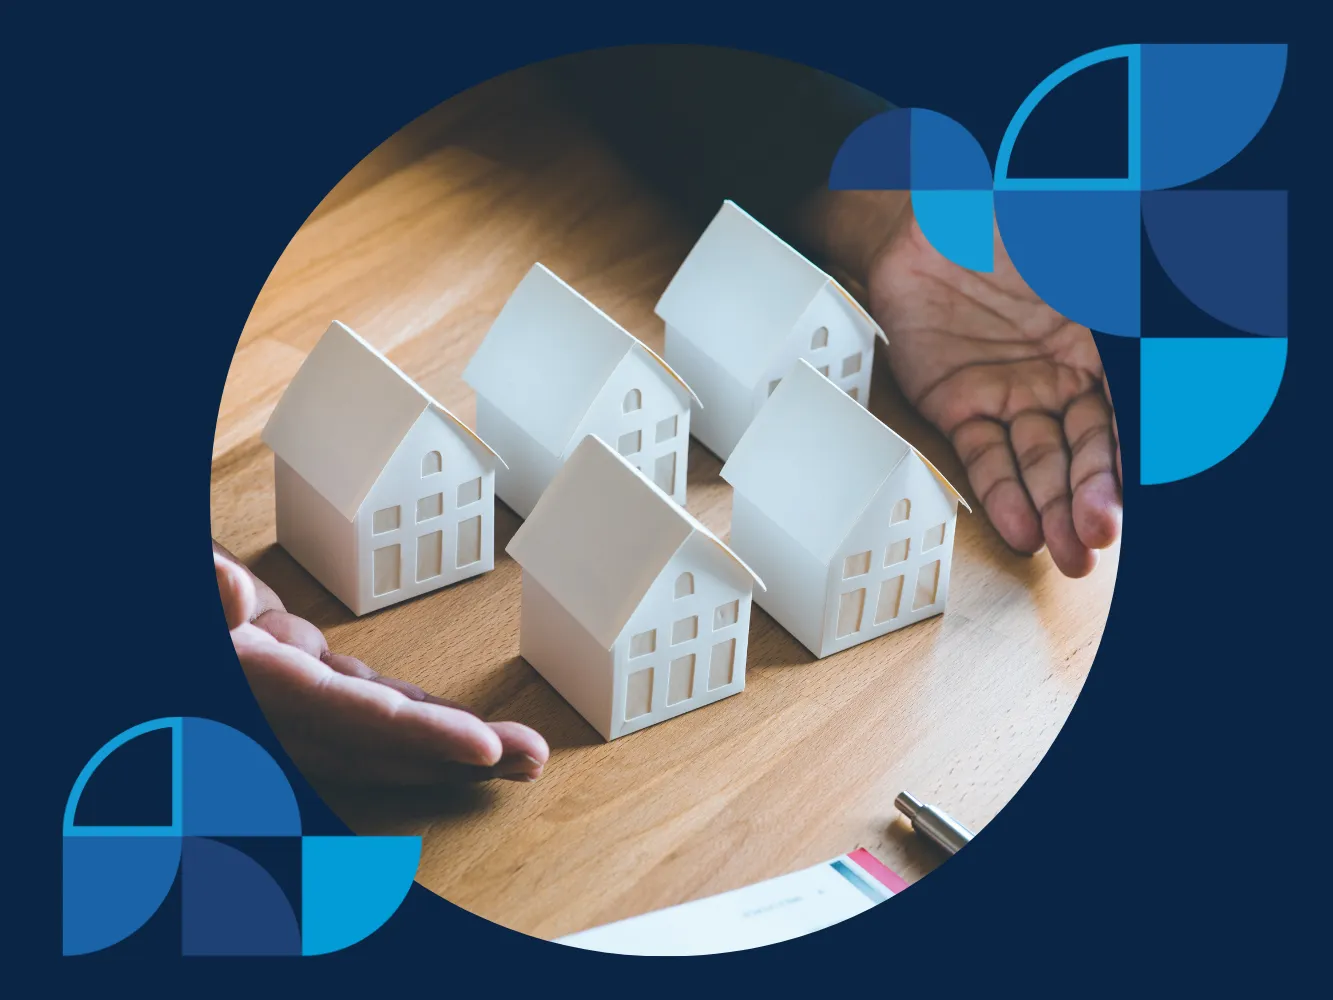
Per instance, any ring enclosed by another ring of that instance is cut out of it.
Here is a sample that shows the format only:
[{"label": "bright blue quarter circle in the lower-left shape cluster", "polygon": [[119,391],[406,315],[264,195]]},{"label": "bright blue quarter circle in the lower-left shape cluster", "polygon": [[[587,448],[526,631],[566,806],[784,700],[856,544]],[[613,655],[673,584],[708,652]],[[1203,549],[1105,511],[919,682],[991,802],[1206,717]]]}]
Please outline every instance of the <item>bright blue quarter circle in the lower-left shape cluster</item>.
[{"label": "bright blue quarter circle in the lower-left shape cluster", "polygon": [[375,933],[407,897],[420,860],[421,837],[303,837],[301,953]]}]

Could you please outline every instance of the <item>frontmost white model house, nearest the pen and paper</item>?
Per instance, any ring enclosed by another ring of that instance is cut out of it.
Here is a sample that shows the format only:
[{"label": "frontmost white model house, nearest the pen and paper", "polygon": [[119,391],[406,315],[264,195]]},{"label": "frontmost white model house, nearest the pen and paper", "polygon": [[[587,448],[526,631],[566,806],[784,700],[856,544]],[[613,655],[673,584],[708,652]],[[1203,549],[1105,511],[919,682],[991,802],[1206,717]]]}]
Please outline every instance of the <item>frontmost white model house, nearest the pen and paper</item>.
[{"label": "frontmost white model house, nearest the pen and paper", "polygon": [[520,652],[607,740],[745,688],[758,577],[597,437],[508,547]]}]

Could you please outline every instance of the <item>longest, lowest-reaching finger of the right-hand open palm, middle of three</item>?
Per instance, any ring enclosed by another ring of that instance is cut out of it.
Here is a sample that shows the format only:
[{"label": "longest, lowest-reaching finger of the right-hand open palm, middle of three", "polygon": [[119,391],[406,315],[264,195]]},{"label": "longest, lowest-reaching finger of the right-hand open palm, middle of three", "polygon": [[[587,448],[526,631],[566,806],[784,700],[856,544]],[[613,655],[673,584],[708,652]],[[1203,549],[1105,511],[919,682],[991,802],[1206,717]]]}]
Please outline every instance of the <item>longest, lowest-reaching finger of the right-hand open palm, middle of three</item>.
[{"label": "longest, lowest-reaching finger of the right-hand open palm, middle of three", "polygon": [[1010,421],[1009,440],[1050,557],[1065,576],[1086,576],[1097,553],[1074,529],[1064,427],[1050,413],[1028,411]]}]

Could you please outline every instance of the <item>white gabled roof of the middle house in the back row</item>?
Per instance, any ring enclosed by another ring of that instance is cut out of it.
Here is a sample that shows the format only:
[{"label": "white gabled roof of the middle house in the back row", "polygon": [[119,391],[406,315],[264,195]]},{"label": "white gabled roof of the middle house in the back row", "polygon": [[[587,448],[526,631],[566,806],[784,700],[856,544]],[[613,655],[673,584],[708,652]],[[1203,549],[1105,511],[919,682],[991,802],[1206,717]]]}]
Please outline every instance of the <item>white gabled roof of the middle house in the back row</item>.
[{"label": "white gabled roof of the middle house in the back row", "polygon": [[543,264],[533,264],[463,372],[477,395],[552,455],[563,455],[593,399],[631,351],[698,399],[661,357]]}]

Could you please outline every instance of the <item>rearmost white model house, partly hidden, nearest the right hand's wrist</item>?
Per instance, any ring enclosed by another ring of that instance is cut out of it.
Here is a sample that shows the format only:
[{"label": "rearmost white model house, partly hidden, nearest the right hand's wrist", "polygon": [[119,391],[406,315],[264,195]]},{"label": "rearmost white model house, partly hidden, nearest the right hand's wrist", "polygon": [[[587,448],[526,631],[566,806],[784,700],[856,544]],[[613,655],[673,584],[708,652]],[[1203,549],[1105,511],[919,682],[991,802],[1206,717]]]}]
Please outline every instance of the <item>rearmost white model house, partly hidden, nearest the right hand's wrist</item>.
[{"label": "rearmost white model house, partly hidden, nearest the right hand's wrist", "polygon": [[832,277],[732,201],[657,303],[666,361],[702,400],[693,435],[726,459],[804,357],[862,405],[884,331]]}]

